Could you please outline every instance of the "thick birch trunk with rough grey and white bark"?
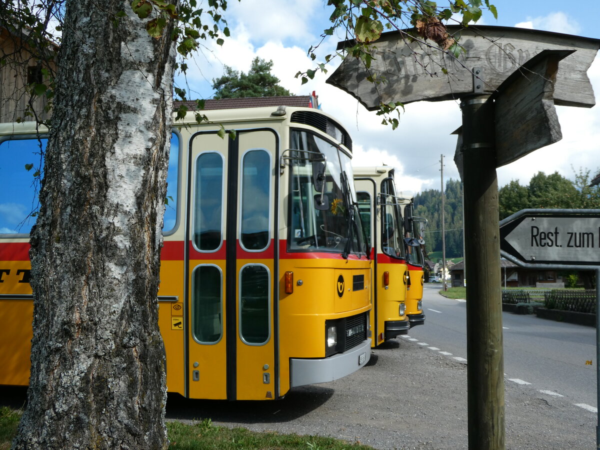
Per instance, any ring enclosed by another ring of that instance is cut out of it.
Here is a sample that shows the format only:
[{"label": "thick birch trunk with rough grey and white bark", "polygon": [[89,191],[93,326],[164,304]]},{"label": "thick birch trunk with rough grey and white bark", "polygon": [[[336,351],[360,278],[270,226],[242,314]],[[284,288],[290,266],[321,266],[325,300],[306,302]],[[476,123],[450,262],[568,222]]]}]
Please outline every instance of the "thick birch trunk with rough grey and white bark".
[{"label": "thick birch trunk with rough grey and white bark", "polygon": [[145,26],[129,1],[67,0],[15,449],[167,447],[157,291],[175,46]]}]

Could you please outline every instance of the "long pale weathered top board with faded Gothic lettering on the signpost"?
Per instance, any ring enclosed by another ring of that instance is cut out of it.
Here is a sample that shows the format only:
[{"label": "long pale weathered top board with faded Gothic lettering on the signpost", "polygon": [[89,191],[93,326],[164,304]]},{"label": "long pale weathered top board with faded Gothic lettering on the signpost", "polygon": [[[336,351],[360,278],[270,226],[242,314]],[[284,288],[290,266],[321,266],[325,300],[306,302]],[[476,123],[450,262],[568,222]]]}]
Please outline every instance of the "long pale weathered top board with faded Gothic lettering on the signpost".
[{"label": "long pale weathered top board with faded Gothic lettering on the signpost", "polygon": [[[600,40],[503,26],[448,29],[466,50],[457,59],[421,42],[409,42],[401,32],[389,32],[373,44],[370,71],[358,59],[347,56],[327,82],[373,110],[381,103],[451,100],[469,94],[473,92],[473,67],[484,69],[484,90],[491,94],[542,50],[577,50],[560,63],[554,102],[583,107],[595,104],[586,72],[600,48]],[[370,73],[383,75],[387,81],[374,85],[367,81]]]}]

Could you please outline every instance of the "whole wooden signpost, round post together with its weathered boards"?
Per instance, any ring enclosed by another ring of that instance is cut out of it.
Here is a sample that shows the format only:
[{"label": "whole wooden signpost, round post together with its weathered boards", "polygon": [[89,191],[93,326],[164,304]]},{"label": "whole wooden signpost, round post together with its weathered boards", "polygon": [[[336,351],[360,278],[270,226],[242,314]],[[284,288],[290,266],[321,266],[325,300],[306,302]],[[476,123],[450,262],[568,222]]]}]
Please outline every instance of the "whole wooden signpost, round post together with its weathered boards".
[{"label": "whole wooden signpost, round post together with its weathered boards", "polygon": [[[505,448],[500,239],[496,167],[561,138],[554,104],[592,107],[586,71],[600,40],[496,26],[449,26],[458,58],[406,32],[371,44],[370,70],[347,56],[328,83],[367,109],[461,100],[470,450]],[[340,43],[343,48],[349,43]],[[442,70],[443,69],[443,70]],[[374,85],[367,77],[385,76]],[[598,428],[600,430],[600,427]],[[597,439],[600,445],[600,433]]]}]

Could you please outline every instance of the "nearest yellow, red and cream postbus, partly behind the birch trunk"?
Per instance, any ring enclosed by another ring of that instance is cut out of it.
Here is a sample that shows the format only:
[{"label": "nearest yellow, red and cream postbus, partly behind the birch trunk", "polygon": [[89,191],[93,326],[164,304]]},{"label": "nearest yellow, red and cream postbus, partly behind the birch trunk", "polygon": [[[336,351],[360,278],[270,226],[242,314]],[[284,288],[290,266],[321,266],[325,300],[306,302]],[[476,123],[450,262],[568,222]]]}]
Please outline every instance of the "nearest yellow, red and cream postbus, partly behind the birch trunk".
[{"label": "nearest yellow, red and cream postbus, partly behind the birch trunk", "polygon": [[[352,141],[320,110],[271,100],[207,102],[210,122],[188,113],[173,129],[158,320],[167,389],[188,398],[277,399],[370,359]],[[29,377],[37,200],[23,167],[40,166],[40,145],[32,124],[0,125],[2,385]]]}]

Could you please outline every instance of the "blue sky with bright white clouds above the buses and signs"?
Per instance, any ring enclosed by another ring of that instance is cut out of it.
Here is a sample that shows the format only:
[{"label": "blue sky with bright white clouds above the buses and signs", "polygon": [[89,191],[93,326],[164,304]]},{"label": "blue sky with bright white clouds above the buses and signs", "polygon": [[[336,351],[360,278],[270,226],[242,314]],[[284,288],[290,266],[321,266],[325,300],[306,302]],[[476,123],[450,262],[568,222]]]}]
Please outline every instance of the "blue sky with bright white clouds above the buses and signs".
[{"label": "blue sky with bright white clouds above the buses and signs", "polygon": [[[482,25],[521,26],[545,31],[600,38],[598,0],[573,3],[555,0],[497,0],[498,20],[484,14]],[[439,2],[442,5],[441,2]],[[458,103],[418,102],[406,106],[397,130],[380,125],[380,118],[367,112],[349,94],[325,84],[326,76],[318,75],[302,86],[294,75],[313,67],[307,49],[320,41],[320,33],[328,28],[331,7],[323,0],[235,0],[229,1],[226,17],[232,37],[223,47],[207,44],[190,61],[188,88],[192,96],[210,98],[211,80],[223,73],[224,65],[247,71],[252,59],[272,59],[273,72],[280,84],[297,95],[316,91],[322,109],[334,115],[352,135],[354,161],[358,165],[388,164],[397,168],[397,184],[401,190],[416,192],[440,187],[440,155],[444,155],[445,179],[458,178],[454,165],[455,136],[450,133],[460,126]],[[331,53],[338,35],[325,40],[319,55]],[[588,71],[600,95],[600,58]],[[331,71],[337,67],[333,64]],[[179,80],[181,85],[181,80]],[[598,101],[598,98],[596,99]],[[536,150],[515,163],[498,169],[499,185],[518,179],[522,185],[539,170],[558,171],[574,178],[574,170],[600,171],[600,107],[592,109],[557,107],[563,139]],[[418,156],[415,156],[418,149]]]}]

